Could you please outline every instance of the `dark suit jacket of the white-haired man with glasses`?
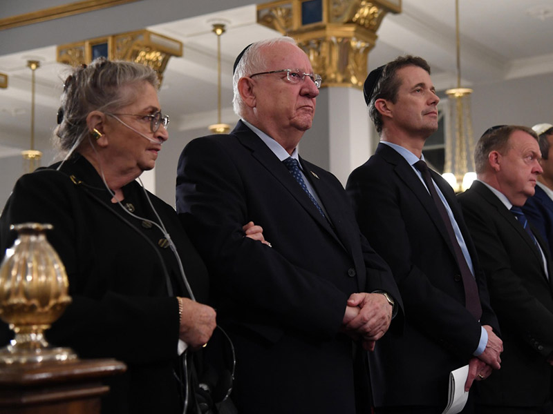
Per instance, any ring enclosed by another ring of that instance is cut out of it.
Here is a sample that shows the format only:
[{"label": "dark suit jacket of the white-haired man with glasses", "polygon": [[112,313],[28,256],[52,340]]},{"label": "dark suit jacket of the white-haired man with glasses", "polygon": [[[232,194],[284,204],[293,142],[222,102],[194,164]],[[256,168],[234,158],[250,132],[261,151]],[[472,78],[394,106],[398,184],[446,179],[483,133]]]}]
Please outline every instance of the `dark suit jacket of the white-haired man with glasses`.
[{"label": "dark suit jacket of the white-haired man with glasses", "polygon": [[[334,228],[241,121],[229,135],[194,139],[178,163],[177,210],[236,346],[241,413],[355,413],[352,341],[339,333],[346,301],[377,289],[399,299],[339,181],[301,165]],[[272,248],[243,237],[250,220]]]}]

